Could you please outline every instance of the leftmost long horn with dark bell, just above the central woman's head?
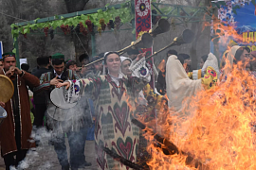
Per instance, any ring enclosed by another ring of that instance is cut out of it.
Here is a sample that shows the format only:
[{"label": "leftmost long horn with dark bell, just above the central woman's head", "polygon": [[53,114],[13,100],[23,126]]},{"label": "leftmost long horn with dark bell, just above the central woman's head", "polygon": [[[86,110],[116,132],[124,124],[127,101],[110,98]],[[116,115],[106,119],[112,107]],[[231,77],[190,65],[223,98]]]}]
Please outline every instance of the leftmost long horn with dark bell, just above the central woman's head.
[{"label": "leftmost long horn with dark bell, just above the central woman's head", "polygon": [[132,42],[131,45],[119,50],[119,54],[127,52],[131,48],[150,48],[153,45],[153,38],[149,33],[144,33],[140,36],[136,42]]}]

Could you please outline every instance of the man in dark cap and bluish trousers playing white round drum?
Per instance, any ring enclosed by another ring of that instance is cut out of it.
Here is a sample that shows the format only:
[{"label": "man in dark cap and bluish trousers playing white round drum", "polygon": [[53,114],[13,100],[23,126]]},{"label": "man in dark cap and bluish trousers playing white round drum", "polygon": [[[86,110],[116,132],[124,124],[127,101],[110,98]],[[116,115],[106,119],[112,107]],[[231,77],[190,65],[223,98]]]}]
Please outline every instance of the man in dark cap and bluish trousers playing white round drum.
[{"label": "man in dark cap and bluish trousers playing white round drum", "polygon": [[[54,150],[62,165],[62,170],[69,170],[69,166],[71,166],[72,170],[90,166],[91,163],[85,161],[84,152],[82,152],[85,144],[83,139],[86,138],[87,133],[86,125],[89,118],[86,116],[88,115],[79,106],[75,106],[77,108],[71,108],[70,110],[59,108],[51,102],[49,96],[59,82],[79,79],[80,77],[72,70],[65,69],[63,54],[57,53],[52,56],[52,66],[54,70],[41,76],[41,85],[35,88],[34,92],[45,92],[47,94],[46,125],[55,136],[52,139]],[[86,104],[84,103],[84,105]],[[67,136],[70,147],[70,162],[67,159],[64,134]]]}]

